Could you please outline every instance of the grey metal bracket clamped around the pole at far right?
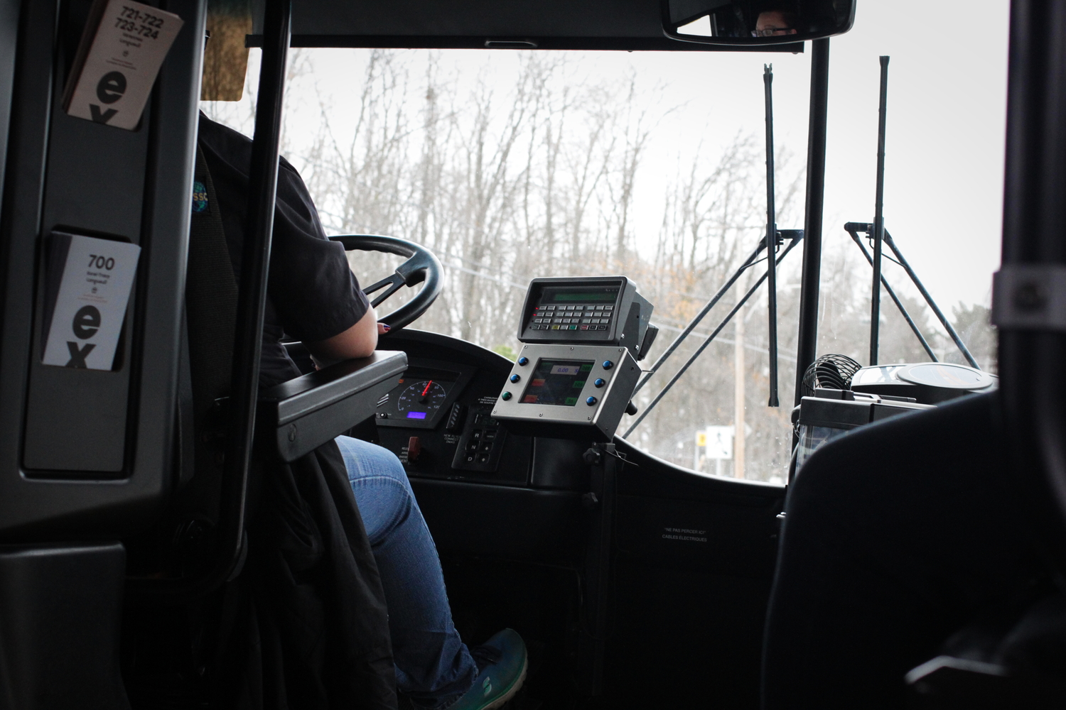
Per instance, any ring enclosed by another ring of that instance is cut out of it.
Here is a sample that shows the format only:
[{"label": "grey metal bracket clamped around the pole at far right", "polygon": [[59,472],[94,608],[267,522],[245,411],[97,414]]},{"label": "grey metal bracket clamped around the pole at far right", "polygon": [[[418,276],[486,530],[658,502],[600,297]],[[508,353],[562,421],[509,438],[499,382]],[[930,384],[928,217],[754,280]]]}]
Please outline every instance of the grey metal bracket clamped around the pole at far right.
[{"label": "grey metal bracket clamped around the pole at far right", "polygon": [[1004,264],[992,276],[992,325],[1066,332],[1066,265]]}]

